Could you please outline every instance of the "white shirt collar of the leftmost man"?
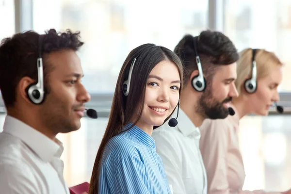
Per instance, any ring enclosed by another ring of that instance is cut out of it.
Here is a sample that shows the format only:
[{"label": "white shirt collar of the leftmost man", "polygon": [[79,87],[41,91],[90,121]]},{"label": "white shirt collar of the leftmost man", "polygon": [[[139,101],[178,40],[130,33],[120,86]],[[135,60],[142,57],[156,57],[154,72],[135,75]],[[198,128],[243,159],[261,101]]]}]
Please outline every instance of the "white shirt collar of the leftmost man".
[{"label": "white shirt collar of the leftmost man", "polygon": [[62,143],[57,138],[52,141],[41,132],[9,115],[5,118],[3,132],[19,138],[44,162],[50,162],[54,157],[60,158],[64,150]]}]

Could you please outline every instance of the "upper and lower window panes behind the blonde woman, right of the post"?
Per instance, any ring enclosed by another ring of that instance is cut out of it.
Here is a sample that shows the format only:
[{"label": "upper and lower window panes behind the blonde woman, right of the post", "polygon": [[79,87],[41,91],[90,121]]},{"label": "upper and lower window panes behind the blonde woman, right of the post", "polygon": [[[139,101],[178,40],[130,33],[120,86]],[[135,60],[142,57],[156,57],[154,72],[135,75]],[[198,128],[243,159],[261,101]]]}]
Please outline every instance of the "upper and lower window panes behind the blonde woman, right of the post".
[{"label": "upper and lower window panes behind the blonde woman, right of the post", "polygon": [[[224,9],[224,32],[239,51],[247,47],[267,49],[285,64],[278,88],[279,104],[290,106],[291,1],[226,0]],[[246,116],[240,121],[239,139],[246,171],[243,189],[290,189],[289,120],[289,115],[270,115]]]}]

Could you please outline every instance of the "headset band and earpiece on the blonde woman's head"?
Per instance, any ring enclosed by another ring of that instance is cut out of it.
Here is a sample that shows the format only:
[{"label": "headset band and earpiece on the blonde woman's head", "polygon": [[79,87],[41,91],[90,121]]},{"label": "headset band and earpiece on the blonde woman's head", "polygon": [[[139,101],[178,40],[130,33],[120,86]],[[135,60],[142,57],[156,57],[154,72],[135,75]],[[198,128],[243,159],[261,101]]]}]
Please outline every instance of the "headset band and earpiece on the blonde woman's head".
[{"label": "headset band and earpiece on the blonde woman's head", "polygon": [[257,49],[253,49],[252,56],[252,77],[244,81],[244,88],[247,93],[253,94],[257,90],[257,64],[255,60]]}]

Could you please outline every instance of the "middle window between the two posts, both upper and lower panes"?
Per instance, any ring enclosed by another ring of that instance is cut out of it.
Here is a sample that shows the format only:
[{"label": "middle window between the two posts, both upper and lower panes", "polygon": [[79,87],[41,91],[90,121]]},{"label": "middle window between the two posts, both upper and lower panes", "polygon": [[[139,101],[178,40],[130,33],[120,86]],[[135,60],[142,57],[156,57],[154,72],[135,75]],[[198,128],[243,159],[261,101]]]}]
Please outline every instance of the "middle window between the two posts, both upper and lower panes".
[{"label": "middle window between the two posts, both upper and lower panes", "polygon": [[129,51],[144,43],[173,50],[185,33],[204,30],[207,17],[208,1],[198,0],[33,1],[36,32],[49,28],[81,31],[85,42],[79,52],[83,83],[93,97],[87,106],[96,107],[98,115],[104,116],[97,120],[83,118],[81,129],[58,135],[65,146],[62,157],[69,186],[90,180],[116,80]]}]

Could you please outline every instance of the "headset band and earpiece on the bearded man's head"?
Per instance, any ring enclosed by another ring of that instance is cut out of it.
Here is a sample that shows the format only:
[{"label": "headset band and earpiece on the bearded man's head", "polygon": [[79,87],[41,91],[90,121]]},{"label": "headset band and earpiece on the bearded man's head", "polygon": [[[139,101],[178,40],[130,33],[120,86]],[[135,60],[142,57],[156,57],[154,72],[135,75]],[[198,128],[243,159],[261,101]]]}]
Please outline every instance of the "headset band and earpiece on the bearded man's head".
[{"label": "headset band and earpiece on the bearded man's head", "polygon": [[192,78],[192,87],[198,92],[203,92],[206,88],[206,80],[203,76],[202,65],[201,65],[200,57],[197,51],[198,36],[193,37],[193,42],[194,42],[195,60],[198,67],[199,74]]}]

